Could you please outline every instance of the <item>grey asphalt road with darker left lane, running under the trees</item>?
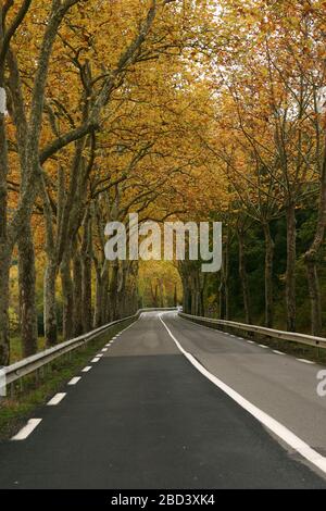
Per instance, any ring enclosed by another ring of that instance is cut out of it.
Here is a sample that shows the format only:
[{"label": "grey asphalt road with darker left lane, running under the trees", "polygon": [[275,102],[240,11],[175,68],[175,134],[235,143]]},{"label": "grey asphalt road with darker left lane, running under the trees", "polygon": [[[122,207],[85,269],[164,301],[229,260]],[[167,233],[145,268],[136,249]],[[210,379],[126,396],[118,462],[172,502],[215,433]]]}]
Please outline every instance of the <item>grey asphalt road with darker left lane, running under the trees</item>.
[{"label": "grey asphalt road with darker left lane, running under the trees", "polygon": [[195,365],[323,454],[318,367],[163,320],[143,314],[38,410],[26,439],[1,443],[0,488],[326,488],[321,471]]}]

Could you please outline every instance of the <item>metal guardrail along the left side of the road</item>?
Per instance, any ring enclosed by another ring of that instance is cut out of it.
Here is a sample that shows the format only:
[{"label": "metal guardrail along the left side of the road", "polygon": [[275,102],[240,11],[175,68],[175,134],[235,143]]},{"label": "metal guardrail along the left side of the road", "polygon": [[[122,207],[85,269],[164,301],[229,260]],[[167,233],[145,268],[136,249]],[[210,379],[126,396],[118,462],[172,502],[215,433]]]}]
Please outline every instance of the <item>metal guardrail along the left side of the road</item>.
[{"label": "metal guardrail along the left side of the road", "polygon": [[113,321],[108,325],[100,326],[95,331],[89,332],[88,334],[80,335],[74,339],[66,340],[65,342],[61,342],[53,348],[46,349],[36,353],[27,359],[20,360],[18,362],[2,367],[2,371],[5,374],[5,383],[10,385],[23,376],[27,374],[34,373],[35,371],[43,367],[46,364],[52,362],[53,360],[58,359],[64,353],[68,353],[70,351],[79,348],[80,346],[85,346],[90,340],[99,337],[99,335],[103,334],[108,329],[112,328],[113,326],[120,325],[122,323],[126,323],[127,321],[136,321],[140,316],[142,312],[154,312],[154,311],[174,311],[176,308],[164,308],[164,309],[139,309],[136,314],[123,317],[122,320]]}]

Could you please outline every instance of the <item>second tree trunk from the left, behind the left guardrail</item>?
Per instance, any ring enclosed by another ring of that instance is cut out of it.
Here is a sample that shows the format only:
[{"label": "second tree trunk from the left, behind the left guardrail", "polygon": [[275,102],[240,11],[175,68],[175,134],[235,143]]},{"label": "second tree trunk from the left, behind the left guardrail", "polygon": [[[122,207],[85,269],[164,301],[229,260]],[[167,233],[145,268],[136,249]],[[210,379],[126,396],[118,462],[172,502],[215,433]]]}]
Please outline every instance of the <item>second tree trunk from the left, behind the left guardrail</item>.
[{"label": "second tree trunk from the left, behind the left guardrail", "polygon": [[35,251],[29,223],[18,237],[18,285],[23,357],[26,358],[37,352],[38,339]]}]

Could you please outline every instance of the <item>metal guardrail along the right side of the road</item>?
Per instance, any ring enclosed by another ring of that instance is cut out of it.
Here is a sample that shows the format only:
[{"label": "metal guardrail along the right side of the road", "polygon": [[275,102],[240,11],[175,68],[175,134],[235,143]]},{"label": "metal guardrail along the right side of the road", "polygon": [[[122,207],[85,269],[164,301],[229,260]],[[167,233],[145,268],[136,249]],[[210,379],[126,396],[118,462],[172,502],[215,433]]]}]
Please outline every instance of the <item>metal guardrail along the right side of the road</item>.
[{"label": "metal guardrail along the right side of the road", "polygon": [[234,321],[214,320],[211,317],[186,314],[184,312],[179,312],[179,316],[185,317],[186,320],[193,321],[195,323],[228,326],[228,327],[237,328],[237,329],[244,331],[244,332],[261,334],[261,335],[272,337],[275,339],[289,340],[292,342],[300,342],[300,344],[308,345],[308,346],[316,346],[321,348],[326,348],[325,337],[314,337],[312,335],[297,334],[294,332],[276,331],[274,328],[267,328],[265,326],[249,325],[247,323],[236,323]]}]

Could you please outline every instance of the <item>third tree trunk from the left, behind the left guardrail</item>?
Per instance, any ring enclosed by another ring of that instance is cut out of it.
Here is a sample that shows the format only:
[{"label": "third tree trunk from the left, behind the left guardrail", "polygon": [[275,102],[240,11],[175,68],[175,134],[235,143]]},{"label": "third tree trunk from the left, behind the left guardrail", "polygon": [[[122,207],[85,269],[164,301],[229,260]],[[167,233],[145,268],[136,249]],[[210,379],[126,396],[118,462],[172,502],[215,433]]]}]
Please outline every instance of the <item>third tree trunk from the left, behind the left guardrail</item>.
[{"label": "third tree trunk from the left, behind the left guardrail", "polygon": [[58,342],[55,281],[58,267],[54,262],[48,261],[45,273],[45,336],[47,347]]}]

